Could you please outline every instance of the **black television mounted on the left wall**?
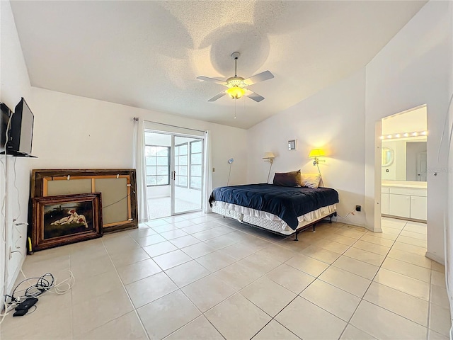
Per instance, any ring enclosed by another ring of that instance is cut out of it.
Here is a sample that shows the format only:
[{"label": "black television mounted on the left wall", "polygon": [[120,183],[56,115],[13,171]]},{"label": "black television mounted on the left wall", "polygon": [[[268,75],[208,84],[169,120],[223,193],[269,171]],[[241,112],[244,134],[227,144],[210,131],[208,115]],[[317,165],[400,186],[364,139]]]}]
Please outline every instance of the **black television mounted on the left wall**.
[{"label": "black television mounted on the left wall", "polygon": [[[6,154],[11,154],[14,157],[34,157],[31,155],[31,147],[35,117],[24,98],[16,105],[14,112],[9,116],[9,120],[6,124],[8,128],[6,129],[6,141],[4,145]],[[3,135],[3,123],[1,131]]]}]

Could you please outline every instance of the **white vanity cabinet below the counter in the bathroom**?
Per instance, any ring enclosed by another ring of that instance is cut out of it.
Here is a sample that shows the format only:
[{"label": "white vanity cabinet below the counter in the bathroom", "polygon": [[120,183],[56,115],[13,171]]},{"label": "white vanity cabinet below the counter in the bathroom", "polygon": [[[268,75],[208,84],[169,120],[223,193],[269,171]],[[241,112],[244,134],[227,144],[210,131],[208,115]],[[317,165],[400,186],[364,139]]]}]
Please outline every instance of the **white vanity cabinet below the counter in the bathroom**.
[{"label": "white vanity cabinet below the counter in the bathroom", "polygon": [[381,212],[414,220],[426,220],[426,188],[382,186]]}]

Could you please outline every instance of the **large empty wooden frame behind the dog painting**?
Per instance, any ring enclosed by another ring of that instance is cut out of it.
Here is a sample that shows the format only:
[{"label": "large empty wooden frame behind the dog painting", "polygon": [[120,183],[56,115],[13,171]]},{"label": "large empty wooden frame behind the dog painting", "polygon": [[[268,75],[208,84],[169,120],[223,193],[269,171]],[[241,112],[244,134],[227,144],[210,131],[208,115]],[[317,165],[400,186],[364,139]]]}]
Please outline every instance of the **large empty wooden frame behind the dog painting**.
[{"label": "large empty wooden frame behind the dog painting", "polygon": [[36,169],[31,197],[102,193],[103,231],[138,227],[135,169]]}]

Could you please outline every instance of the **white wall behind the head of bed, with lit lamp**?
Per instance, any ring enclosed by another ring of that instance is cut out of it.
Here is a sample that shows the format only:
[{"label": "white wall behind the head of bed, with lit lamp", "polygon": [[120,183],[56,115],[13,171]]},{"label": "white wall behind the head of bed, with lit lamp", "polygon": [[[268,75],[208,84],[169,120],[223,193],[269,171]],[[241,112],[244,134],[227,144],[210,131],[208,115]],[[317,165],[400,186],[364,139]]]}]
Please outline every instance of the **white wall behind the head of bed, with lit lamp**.
[{"label": "white wall behind the head of bed, with lit lamp", "polygon": [[[248,130],[248,182],[263,183],[269,164],[265,152],[273,152],[273,171],[302,169],[317,172],[308,158],[311,149],[326,151],[319,168],[324,185],[340,196],[338,213],[347,215],[355,205],[364,205],[365,69],[320,91]],[[297,139],[297,150],[289,151],[287,141]],[[236,162],[234,163],[236,164]],[[365,225],[363,212],[338,221]]]}]

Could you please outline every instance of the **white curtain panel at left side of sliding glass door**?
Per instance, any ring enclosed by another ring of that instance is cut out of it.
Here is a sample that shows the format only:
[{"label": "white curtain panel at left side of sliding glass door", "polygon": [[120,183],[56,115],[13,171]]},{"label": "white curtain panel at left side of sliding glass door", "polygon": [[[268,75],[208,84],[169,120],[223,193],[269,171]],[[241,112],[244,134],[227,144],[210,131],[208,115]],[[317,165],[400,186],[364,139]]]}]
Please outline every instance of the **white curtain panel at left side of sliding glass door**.
[{"label": "white curtain panel at left side of sliding glass door", "polygon": [[139,222],[148,221],[148,202],[147,202],[147,164],[145,162],[145,143],[144,143],[144,120],[134,118],[135,132],[135,154],[134,166],[137,174],[137,205],[139,212]]}]

